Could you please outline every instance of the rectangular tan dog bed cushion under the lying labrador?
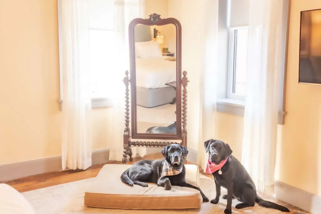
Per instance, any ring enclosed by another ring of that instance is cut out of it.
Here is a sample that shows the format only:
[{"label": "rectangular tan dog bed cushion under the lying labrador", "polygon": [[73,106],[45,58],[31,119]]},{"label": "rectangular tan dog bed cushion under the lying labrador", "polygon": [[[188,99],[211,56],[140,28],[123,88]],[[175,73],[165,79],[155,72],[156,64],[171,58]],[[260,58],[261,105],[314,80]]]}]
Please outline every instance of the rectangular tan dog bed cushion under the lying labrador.
[{"label": "rectangular tan dog bed cushion under the lying labrador", "polygon": [[[106,164],[100,169],[92,186],[85,192],[84,205],[115,209],[195,209],[200,208],[202,196],[198,190],[172,186],[171,190],[156,184],[148,187],[129,186],[120,180],[131,165]],[[199,169],[186,164],[186,181],[199,186]]]}]

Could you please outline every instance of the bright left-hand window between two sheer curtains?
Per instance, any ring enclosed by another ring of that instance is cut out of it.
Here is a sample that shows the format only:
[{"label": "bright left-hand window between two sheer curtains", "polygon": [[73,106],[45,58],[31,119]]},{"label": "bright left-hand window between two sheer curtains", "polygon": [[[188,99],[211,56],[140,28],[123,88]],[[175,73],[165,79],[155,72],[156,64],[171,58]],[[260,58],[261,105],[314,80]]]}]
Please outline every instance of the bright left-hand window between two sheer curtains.
[{"label": "bright left-hand window between two sheer curtains", "polygon": [[114,1],[91,0],[89,9],[89,54],[92,98],[112,96]]}]

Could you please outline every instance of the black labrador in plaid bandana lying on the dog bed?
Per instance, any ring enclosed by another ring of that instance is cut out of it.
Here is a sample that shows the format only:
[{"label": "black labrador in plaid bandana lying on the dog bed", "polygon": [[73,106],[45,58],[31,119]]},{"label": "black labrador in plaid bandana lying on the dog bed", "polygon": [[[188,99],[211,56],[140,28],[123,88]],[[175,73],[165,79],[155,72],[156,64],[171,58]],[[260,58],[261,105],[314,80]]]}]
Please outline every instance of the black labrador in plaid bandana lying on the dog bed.
[{"label": "black labrador in plaid bandana lying on the dog bed", "polygon": [[133,186],[148,186],[147,183],[154,183],[170,190],[172,185],[185,186],[200,191],[203,202],[209,202],[202,190],[185,181],[185,166],[183,160],[188,151],[179,144],[170,144],[161,151],[164,159],[140,160],[123,172],[120,179],[125,184]]}]

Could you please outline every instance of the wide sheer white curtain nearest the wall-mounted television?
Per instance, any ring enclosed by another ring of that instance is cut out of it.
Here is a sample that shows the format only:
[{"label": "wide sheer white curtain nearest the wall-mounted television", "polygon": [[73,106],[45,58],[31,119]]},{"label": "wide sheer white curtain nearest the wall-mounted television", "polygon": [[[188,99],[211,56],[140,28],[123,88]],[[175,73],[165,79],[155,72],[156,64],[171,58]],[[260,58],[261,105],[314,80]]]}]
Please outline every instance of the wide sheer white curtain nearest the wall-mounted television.
[{"label": "wide sheer white curtain nearest the wall-mounted television", "polygon": [[282,0],[249,0],[247,94],[242,164],[256,188],[271,193],[277,141]]}]

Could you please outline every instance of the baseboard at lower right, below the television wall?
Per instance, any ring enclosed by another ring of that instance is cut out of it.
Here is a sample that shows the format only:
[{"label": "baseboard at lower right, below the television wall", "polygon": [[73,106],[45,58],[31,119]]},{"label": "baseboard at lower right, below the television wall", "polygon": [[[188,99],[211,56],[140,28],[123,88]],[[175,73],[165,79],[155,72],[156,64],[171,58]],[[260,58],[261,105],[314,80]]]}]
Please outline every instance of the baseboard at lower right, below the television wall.
[{"label": "baseboard at lower right, below the television wall", "polygon": [[275,197],[281,201],[299,207],[313,214],[321,214],[321,197],[276,181],[274,184]]}]

